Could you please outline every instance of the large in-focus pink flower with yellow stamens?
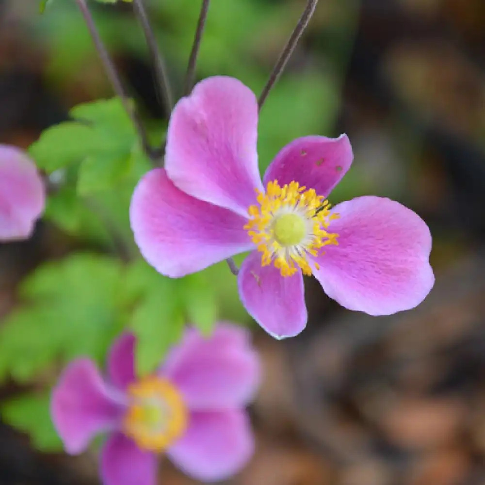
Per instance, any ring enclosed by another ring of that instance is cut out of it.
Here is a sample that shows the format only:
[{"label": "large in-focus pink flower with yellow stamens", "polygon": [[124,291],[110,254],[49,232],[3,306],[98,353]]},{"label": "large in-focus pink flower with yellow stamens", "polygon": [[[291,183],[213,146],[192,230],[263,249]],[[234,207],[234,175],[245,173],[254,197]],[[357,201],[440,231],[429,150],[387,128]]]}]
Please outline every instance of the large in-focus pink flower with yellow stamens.
[{"label": "large in-focus pink flower with yellow stamens", "polygon": [[206,79],[178,102],[165,169],[147,173],[131,201],[145,259],[180,277],[252,251],[238,275],[240,297],[278,339],[307,323],[302,273],[340,305],[370,315],[420,304],[434,284],[422,219],[387,198],[333,209],[325,200],[352,163],[347,136],[294,140],[261,182],[257,127],[256,97],[236,79]]}]

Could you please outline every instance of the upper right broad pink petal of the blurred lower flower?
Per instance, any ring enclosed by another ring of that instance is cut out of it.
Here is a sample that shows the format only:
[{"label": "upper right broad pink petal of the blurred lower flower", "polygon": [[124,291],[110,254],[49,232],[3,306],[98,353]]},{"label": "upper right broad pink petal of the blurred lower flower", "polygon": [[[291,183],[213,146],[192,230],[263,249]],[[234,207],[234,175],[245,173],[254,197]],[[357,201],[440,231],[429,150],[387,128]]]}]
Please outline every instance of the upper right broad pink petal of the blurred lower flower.
[{"label": "upper right broad pink petal of the blurred lower flower", "polygon": [[250,332],[219,323],[209,338],[194,328],[167,357],[161,373],[174,382],[190,409],[240,407],[259,385],[259,357]]}]

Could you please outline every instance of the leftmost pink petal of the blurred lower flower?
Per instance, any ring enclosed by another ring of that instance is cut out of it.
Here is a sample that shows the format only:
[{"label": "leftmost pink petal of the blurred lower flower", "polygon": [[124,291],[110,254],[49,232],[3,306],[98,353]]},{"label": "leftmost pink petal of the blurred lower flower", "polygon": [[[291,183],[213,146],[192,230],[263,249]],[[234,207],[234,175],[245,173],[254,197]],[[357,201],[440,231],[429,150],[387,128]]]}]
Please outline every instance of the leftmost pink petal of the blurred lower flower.
[{"label": "leftmost pink petal of the blurred lower flower", "polygon": [[71,362],[52,391],[51,417],[67,453],[81,453],[97,433],[114,429],[123,405],[89,359]]}]

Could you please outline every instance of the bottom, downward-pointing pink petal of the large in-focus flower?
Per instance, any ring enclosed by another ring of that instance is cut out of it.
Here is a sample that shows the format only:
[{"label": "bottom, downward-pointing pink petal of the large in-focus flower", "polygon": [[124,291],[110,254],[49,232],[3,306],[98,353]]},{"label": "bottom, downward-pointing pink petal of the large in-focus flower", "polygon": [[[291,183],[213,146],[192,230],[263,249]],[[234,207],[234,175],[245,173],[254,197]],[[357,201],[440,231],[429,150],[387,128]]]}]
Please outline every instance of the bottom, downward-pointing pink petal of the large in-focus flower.
[{"label": "bottom, downward-pointing pink petal of the large in-focus flower", "polygon": [[303,276],[283,277],[272,264],[261,266],[253,251],[238,275],[239,295],[248,313],[275,339],[298,335],[307,324]]}]

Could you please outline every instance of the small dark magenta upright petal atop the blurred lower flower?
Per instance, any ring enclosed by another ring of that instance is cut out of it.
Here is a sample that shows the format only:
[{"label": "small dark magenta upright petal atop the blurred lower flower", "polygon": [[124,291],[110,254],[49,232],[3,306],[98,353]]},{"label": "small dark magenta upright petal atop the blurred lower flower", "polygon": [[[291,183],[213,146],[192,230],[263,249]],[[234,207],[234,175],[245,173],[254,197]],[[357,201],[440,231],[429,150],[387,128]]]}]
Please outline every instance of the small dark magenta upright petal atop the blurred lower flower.
[{"label": "small dark magenta upright petal atop the blurred lower flower", "polygon": [[135,336],[125,332],[116,339],[108,355],[108,376],[119,389],[125,389],[135,380]]}]

